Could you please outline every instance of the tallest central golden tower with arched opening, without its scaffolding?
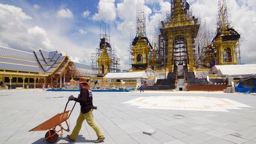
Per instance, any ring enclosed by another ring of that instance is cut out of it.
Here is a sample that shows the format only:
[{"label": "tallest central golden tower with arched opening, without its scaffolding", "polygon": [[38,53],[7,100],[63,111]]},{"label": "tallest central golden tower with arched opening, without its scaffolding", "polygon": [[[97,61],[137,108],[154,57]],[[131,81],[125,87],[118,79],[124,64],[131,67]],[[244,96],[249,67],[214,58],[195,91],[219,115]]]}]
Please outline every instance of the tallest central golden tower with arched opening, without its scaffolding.
[{"label": "tallest central golden tower with arched opening, without its scaffolding", "polygon": [[167,50],[166,68],[172,69],[173,66],[182,63],[192,71],[195,66],[194,39],[197,37],[200,24],[189,12],[189,7],[185,1],[174,0],[170,20],[167,24],[162,21],[163,28],[160,28],[160,31]]}]

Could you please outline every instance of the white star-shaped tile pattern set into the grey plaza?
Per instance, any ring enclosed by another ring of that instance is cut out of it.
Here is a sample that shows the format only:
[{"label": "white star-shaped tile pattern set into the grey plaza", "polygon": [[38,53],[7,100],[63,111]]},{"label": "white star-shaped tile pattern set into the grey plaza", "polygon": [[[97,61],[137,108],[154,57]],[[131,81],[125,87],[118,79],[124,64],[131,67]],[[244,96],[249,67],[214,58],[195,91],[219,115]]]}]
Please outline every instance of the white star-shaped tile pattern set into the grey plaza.
[{"label": "white star-shaped tile pattern set into the grey plaza", "polygon": [[227,98],[190,96],[140,97],[126,103],[137,105],[139,108],[194,111],[228,111],[228,109],[250,107]]}]

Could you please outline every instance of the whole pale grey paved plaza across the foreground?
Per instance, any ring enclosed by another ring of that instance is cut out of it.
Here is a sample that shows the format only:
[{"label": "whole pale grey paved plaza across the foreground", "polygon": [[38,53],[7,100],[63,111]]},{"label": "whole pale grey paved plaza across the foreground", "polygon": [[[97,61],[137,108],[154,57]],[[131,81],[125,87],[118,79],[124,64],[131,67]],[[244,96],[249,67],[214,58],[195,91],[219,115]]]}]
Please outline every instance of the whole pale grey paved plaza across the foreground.
[{"label": "whole pale grey paved plaza across the foreground", "polygon": [[[61,113],[69,95],[41,89],[0,91],[0,143],[46,143],[46,131],[28,132]],[[68,105],[71,109],[73,102]],[[256,143],[256,96],[222,92],[94,92],[94,117],[104,143]],[[77,104],[68,123],[79,114]],[[64,124],[65,126],[65,124]],[[143,134],[155,130],[152,136]],[[57,143],[70,143],[64,132]],[[94,131],[84,123],[72,143],[92,143]]]}]

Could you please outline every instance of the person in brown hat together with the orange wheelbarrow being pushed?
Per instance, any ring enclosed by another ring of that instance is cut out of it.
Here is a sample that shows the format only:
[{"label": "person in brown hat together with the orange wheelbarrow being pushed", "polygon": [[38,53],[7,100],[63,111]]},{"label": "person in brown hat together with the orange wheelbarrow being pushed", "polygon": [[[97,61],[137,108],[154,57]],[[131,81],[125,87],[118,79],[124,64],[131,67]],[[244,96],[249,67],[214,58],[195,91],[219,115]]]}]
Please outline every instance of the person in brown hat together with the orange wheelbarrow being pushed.
[{"label": "person in brown hat together with the orange wheelbarrow being pushed", "polygon": [[[69,96],[69,101],[75,101],[77,103],[80,103],[81,105],[81,113],[78,116],[78,119],[76,120],[75,128],[73,129],[73,132],[71,135],[67,135],[66,137],[71,141],[74,142],[76,137],[78,136],[79,131],[81,130],[82,123],[84,120],[87,120],[87,123],[89,126],[94,129],[95,133],[97,134],[98,139],[94,141],[94,143],[100,143],[104,142],[104,135],[101,132],[100,128],[98,127],[98,124],[95,123],[94,118],[92,116],[92,111],[94,109],[97,109],[97,107],[94,107],[92,104],[92,91],[89,85],[87,84],[88,80],[84,78],[80,78],[78,81],[80,94],[78,98],[73,97],[73,95]],[[68,105],[66,103],[66,107]],[[48,130],[46,135],[44,136],[44,140],[46,140],[48,143],[55,143],[59,136],[63,135],[63,130],[69,132],[69,125],[67,120],[69,119],[69,116],[71,115],[73,108],[75,107],[75,104],[72,107],[72,110],[63,111],[63,113],[56,114],[51,119],[44,121],[44,123],[39,124],[39,126],[34,127],[34,129],[31,129],[30,131],[38,131],[38,130]],[[64,129],[62,126],[62,123],[65,122],[68,126],[67,129]],[[56,127],[59,126],[60,130],[56,130]],[[29,132],[30,132],[29,131]]]}]

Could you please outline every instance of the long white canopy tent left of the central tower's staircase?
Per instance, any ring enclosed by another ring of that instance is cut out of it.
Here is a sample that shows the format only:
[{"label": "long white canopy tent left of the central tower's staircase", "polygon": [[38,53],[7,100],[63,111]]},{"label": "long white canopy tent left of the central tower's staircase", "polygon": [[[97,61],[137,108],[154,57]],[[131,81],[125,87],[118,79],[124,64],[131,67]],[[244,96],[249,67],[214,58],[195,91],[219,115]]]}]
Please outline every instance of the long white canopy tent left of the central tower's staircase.
[{"label": "long white canopy tent left of the central tower's staircase", "polygon": [[145,71],[143,72],[123,72],[123,73],[107,73],[105,79],[148,79]]}]

